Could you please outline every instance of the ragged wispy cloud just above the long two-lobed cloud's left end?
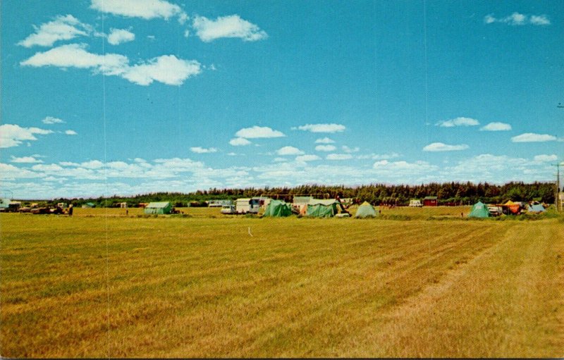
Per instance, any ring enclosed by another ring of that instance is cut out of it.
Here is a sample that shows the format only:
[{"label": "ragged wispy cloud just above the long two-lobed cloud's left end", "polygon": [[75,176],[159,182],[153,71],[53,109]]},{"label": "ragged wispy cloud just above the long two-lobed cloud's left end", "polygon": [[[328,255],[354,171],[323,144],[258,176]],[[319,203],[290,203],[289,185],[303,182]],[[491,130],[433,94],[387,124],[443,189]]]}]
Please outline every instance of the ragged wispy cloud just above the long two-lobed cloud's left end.
[{"label": "ragged wispy cloud just above the long two-lobed cloud's left end", "polygon": [[80,23],[73,15],[59,15],[55,20],[35,27],[35,33],[18,42],[18,45],[52,46],[59,40],[70,40],[78,36],[88,36],[92,31],[90,25]]}]

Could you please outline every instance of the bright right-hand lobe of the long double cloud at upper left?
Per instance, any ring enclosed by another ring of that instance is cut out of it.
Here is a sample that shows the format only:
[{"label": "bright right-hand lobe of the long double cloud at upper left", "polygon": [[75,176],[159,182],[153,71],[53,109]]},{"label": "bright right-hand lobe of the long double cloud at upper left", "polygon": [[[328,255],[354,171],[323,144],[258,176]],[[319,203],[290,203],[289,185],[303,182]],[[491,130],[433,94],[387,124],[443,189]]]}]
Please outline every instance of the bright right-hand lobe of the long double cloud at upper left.
[{"label": "bright right-hand lobe of the long double cloud at upper left", "polygon": [[131,66],[121,76],[137,85],[150,85],[153,81],[166,85],[182,85],[188,77],[201,72],[202,65],[195,60],[187,61],[174,55],[164,55]]}]

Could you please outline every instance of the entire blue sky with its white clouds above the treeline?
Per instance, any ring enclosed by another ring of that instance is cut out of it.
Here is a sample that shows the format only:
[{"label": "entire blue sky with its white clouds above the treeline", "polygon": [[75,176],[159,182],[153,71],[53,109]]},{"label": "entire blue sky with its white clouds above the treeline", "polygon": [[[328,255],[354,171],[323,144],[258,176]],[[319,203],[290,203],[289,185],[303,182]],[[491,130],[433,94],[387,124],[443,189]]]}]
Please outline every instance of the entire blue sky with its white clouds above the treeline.
[{"label": "entire blue sky with its white clouds above the treeline", "polygon": [[1,190],[553,181],[564,1],[4,1]]}]

